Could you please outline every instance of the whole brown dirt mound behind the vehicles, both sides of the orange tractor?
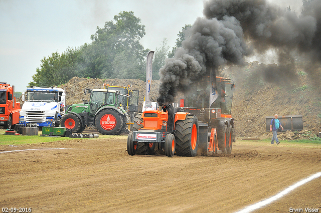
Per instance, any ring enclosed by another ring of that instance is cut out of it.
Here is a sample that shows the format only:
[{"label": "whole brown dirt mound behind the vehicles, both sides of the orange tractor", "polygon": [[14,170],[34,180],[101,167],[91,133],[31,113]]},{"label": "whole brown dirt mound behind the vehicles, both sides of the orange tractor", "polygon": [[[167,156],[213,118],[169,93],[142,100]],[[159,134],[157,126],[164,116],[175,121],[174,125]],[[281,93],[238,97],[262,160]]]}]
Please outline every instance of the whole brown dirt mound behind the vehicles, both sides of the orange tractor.
[{"label": "whole brown dirt mound behind the vehicles, both sides of the orange tractor", "polygon": [[[265,117],[274,114],[279,116],[302,115],[303,130],[311,131],[311,135],[318,135],[318,132],[321,132],[320,87],[313,86],[311,79],[301,71],[298,71],[295,83],[266,83],[258,77],[258,68],[258,62],[252,62],[245,67],[230,67],[222,73],[223,76],[233,79],[236,83],[232,107],[236,136],[269,136],[269,133],[266,133]],[[66,104],[69,105],[83,103],[83,99],[89,100],[89,94],[84,95],[84,89],[102,88],[103,83],[114,86],[130,85],[131,89],[139,90],[138,110],[141,111],[145,95],[145,82],[141,80],[74,77],[59,87],[65,88]],[[158,85],[159,81],[152,81],[151,101],[156,101],[158,97]],[[280,138],[289,139],[288,133],[280,134],[285,135]],[[297,136],[293,135],[291,138],[296,139]]]}]

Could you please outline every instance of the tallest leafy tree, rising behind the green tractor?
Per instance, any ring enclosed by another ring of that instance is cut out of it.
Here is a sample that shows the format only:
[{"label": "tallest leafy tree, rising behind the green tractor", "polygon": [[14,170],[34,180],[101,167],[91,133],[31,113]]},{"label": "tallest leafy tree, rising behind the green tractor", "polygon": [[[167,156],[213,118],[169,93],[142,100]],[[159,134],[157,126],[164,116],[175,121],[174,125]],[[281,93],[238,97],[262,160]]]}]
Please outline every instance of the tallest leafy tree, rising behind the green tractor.
[{"label": "tallest leafy tree, rising behind the green tractor", "polygon": [[103,29],[97,27],[91,36],[92,44],[82,50],[87,53],[82,55],[86,62],[83,74],[93,73],[95,78],[135,78],[141,72],[146,50],[139,41],[145,35],[145,26],[132,11],[114,16],[114,22],[106,22]]}]

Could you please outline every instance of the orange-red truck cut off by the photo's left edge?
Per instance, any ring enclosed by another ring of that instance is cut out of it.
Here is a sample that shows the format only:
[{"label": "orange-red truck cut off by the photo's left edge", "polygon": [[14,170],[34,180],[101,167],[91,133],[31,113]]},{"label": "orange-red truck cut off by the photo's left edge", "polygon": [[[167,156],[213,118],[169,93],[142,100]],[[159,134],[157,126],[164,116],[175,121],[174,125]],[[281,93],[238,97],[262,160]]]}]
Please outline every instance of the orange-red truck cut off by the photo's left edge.
[{"label": "orange-red truck cut off by the photo's left edge", "polygon": [[0,126],[11,129],[19,123],[20,103],[16,102],[15,86],[0,82]]}]

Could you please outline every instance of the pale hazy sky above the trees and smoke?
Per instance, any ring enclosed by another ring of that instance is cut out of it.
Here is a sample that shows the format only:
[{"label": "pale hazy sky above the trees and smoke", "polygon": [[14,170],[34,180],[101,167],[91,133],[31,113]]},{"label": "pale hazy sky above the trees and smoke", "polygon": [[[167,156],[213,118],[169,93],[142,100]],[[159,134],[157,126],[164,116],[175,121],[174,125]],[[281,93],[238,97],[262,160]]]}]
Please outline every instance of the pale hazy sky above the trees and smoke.
[{"label": "pale hazy sky above the trees and smoke", "polygon": [[[269,2],[301,11],[302,0]],[[203,1],[0,0],[0,82],[26,91],[44,57],[91,43],[96,28],[121,11],[132,11],[145,25],[140,40],[145,49],[161,47],[163,39],[172,49],[182,28],[203,17]]]}]

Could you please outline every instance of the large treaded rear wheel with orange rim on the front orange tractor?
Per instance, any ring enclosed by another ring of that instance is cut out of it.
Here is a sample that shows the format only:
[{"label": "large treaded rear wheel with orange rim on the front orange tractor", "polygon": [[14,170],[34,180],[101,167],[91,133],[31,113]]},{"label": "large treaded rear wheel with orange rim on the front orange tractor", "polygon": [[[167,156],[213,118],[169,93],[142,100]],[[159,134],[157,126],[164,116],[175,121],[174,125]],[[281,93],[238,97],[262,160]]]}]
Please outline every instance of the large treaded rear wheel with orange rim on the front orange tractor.
[{"label": "large treaded rear wheel with orange rim on the front orange tractor", "polygon": [[185,120],[175,124],[176,154],[196,156],[199,146],[199,121],[195,115],[188,114]]}]

